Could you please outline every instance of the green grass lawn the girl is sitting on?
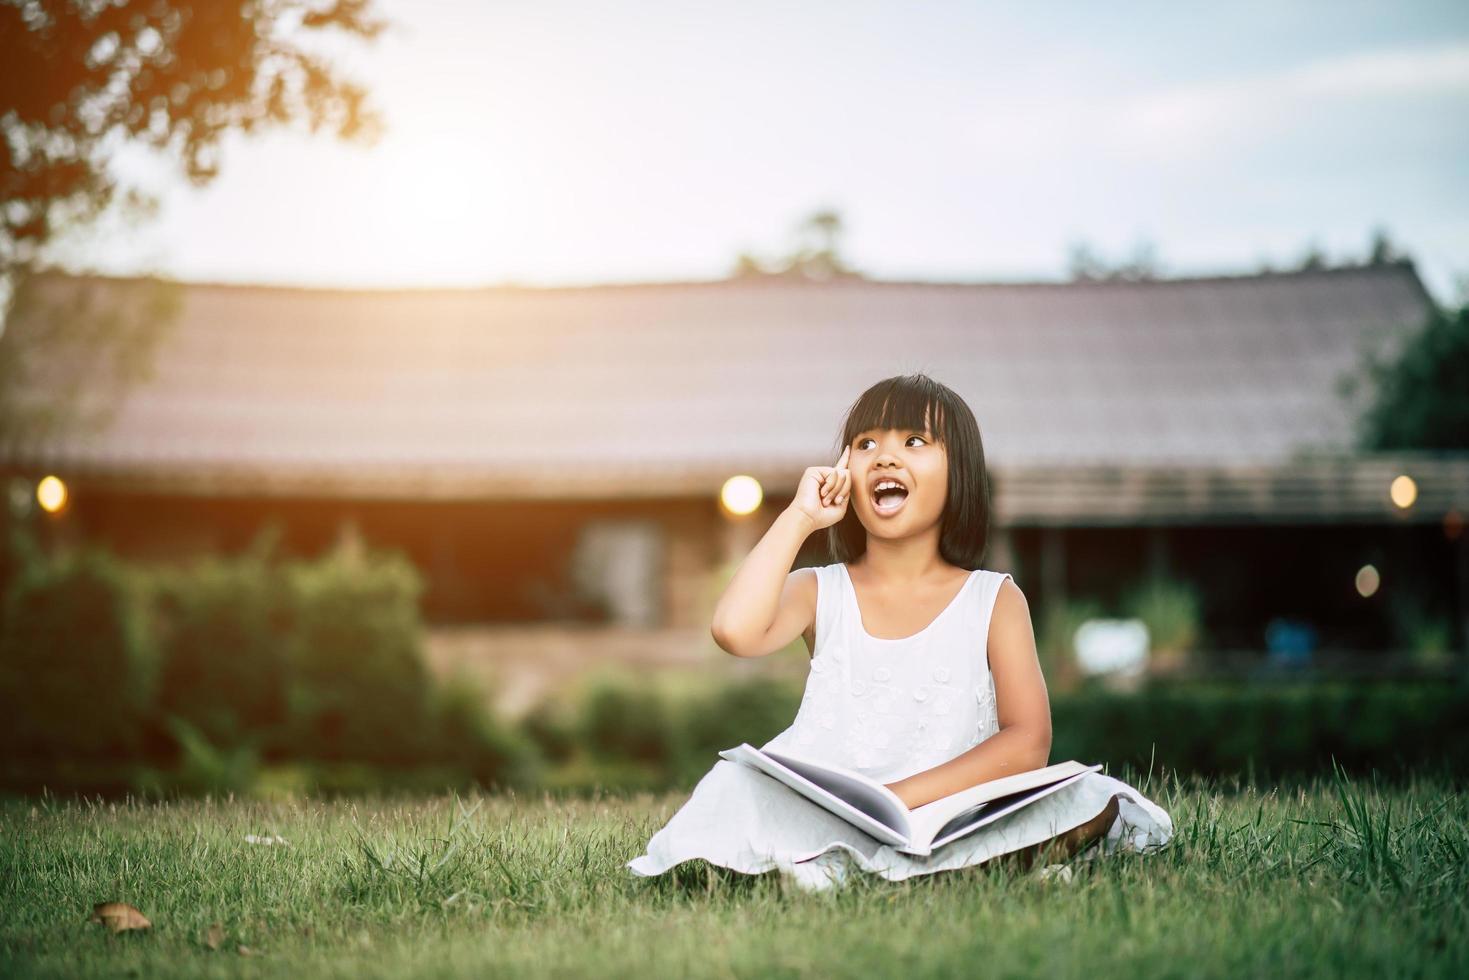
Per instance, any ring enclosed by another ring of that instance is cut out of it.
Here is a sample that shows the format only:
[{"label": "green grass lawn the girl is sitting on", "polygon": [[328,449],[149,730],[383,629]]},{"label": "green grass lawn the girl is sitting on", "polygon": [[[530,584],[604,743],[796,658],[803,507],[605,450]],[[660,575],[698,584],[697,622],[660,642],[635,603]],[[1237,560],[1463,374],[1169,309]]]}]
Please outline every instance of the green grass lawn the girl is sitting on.
[{"label": "green grass lawn the girl is sitting on", "polygon": [[[1069,883],[993,864],[817,895],[702,861],[630,877],[680,793],[10,799],[0,974],[1469,976],[1453,786],[1130,782],[1172,814],[1166,849]],[[153,930],[88,924],[101,901]]]}]

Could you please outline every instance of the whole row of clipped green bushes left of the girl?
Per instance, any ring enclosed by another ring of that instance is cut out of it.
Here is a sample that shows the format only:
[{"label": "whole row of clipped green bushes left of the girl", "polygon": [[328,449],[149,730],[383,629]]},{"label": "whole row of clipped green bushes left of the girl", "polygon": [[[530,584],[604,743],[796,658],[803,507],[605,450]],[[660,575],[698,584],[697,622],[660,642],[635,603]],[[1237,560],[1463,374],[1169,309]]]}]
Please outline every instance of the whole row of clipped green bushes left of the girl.
[{"label": "whole row of clipped green bushes left of the girl", "polygon": [[[394,554],[142,570],[16,539],[3,597],[0,783],[231,792],[530,786],[536,743],[422,651],[422,580]],[[295,765],[282,765],[294,763]]]}]

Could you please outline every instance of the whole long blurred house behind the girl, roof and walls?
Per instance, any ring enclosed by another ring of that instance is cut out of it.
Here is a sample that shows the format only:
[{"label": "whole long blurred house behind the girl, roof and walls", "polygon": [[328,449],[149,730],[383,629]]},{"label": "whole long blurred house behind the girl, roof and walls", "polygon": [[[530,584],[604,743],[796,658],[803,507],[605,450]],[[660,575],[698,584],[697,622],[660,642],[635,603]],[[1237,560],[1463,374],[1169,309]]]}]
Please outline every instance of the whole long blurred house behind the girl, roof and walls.
[{"label": "whole long blurred house behind the girl, roof and walls", "polygon": [[[126,279],[47,289],[125,304]],[[989,567],[1042,610],[1194,582],[1210,642],[1268,620],[1387,648],[1384,597],[1469,616],[1469,460],[1362,454],[1340,391],[1431,300],[1410,262],[1141,282],[732,279],[341,291],[187,284],[153,376],[94,433],[3,448],[128,554],[354,529],[426,573],[435,623],[705,632],[711,572],[758,539],[843,411],[927,372],[971,404],[995,482]],[[724,480],[764,502],[736,517]],[[1393,480],[1415,480],[1409,507]],[[22,483],[24,485],[24,483]],[[1457,523],[1456,523],[1457,522]],[[820,563],[820,541],[801,563]],[[1353,582],[1366,564],[1384,595]]]}]

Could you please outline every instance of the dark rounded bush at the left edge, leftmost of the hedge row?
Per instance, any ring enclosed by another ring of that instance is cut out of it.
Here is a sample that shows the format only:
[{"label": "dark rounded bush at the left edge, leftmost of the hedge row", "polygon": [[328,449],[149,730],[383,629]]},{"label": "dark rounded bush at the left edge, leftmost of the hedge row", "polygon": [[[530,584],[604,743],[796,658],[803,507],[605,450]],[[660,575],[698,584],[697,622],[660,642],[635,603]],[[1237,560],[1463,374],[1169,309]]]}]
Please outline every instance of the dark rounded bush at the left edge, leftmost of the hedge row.
[{"label": "dark rounded bush at the left edge, leftmost of the hedge row", "polygon": [[0,624],[0,711],[16,760],[129,761],[156,680],[144,586],[94,550],[24,555]]}]

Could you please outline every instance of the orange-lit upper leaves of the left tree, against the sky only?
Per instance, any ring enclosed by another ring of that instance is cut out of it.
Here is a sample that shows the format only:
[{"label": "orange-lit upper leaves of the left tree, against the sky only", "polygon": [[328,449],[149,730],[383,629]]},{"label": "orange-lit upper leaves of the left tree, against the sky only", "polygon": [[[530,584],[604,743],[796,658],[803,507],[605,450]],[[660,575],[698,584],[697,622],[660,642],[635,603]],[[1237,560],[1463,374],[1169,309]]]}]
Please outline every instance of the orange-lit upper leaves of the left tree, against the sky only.
[{"label": "orange-lit upper leaves of the left tree, against the sky only", "polygon": [[375,38],[372,0],[0,0],[0,270],[29,263],[59,231],[95,219],[122,191],[118,143],[178,159],[198,187],[219,143],[306,120],[372,141],[366,91],[303,43]]}]

